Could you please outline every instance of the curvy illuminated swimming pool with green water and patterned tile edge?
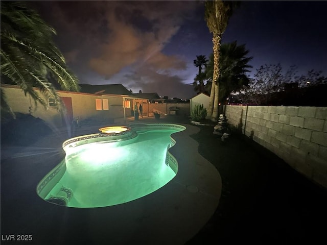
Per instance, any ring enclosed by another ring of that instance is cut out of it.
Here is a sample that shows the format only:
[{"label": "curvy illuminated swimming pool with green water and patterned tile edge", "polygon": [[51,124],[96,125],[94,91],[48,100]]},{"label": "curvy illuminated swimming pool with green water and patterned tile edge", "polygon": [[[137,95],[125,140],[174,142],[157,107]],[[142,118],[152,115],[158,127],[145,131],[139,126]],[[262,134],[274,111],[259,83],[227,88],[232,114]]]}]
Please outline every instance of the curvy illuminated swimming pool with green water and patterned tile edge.
[{"label": "curvy illuminated swimming pool with green water and patterned tile edge", "polygon": [[78,208],[142,198],[176,176],[178,164],[168,150],[175,144],[171,135],[182,130],[180,125],[134,124],[66,140],[65,159],[40,181],[37,193]]}]

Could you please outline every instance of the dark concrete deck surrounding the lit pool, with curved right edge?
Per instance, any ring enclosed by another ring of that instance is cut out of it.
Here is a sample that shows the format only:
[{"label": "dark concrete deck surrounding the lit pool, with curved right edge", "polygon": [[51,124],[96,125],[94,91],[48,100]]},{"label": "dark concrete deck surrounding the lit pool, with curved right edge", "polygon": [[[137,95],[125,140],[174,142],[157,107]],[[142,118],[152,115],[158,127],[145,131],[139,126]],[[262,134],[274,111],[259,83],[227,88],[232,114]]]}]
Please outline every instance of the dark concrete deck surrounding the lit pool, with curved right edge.
[{"label": "dark concrete deck surrounding the lit pool, with curved right edge", "polygon": [[[114,125],[134,122],[121,120]],[[165,123],[165,118],[137,122]],[[198,154],[197,141],[189,137],[199,128],[183,126],[186,130],[173,135],[176,145],[170,150],[179,165],[176,177],[141,199],[103,208],[62,207],[36,194],[39,181],[64,158],[65,131],[26,148],[2,145],[1,243],[16,244],[9,235],[17,239],[19,234],[31,235],[31,244],[184,244],[215,212],[222,183],[218,170]],[[98,129],[82,126],[74,134]]]}]

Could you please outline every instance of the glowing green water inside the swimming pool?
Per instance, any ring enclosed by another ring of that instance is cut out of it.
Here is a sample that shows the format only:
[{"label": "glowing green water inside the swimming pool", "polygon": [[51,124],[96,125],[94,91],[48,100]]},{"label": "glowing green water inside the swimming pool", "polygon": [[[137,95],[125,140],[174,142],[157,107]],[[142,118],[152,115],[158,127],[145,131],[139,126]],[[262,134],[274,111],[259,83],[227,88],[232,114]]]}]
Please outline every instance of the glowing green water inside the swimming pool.
[{"label": "glowing green water inside the swimming pool", "polygon": [[176,176],[166,157],[177,131],[137,131],[132,139],[69,148],[65,173],[44,199],[69,194],[68,207],[104,207],[144,197]]}]

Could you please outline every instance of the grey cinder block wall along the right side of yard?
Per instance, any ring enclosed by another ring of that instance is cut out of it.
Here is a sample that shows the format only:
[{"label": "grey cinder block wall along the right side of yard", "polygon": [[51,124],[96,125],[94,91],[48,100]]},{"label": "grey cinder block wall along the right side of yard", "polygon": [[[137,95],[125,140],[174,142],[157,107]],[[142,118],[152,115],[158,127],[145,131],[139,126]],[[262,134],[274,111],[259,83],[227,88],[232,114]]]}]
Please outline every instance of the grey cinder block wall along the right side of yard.
[{"label": "grey cinder block wall along the right side of yard", "polygon": [[327,188],[327,107],[226,106],[229,124]]}]

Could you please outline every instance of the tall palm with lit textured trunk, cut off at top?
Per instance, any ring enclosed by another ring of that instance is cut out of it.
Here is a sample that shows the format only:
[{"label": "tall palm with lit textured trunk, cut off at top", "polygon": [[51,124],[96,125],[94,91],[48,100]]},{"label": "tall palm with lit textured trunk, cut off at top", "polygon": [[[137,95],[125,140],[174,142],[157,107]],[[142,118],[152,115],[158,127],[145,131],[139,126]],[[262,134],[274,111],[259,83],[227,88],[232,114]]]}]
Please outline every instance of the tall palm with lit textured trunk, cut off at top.
[{"label": "tall palm with lit textured trunk, cut off at top", "polygon": [[208,108],[208,117],[216,121],[218,117],[218,99],[219,99],[219,77],[220,77],[220,45],[222,35],[227,27],[228,20],[232,15],[232,10],[239,5],[238,1],[205,1],[204,18],[208,29],[213,33],[213,51],[214,51],[214,74],[213,83],[210,92],[210,101]]}]

